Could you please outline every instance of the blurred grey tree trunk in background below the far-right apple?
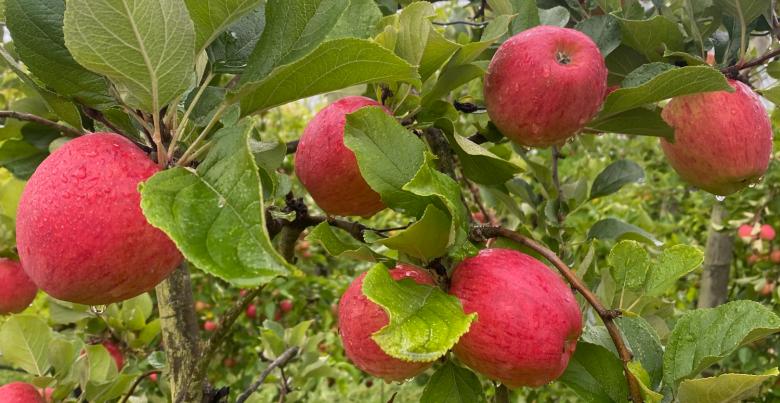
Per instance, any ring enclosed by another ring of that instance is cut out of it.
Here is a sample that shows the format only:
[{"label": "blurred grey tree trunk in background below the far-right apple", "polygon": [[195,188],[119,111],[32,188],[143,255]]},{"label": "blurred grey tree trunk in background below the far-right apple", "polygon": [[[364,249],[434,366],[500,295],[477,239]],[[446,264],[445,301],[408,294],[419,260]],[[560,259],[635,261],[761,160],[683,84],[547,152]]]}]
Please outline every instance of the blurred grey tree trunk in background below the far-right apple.
[{"label": "blurred grey tree trunk in background below the far-right apple", "polygon": [[716,202],[712,206],[707,249],[704,252],[704,272],[701,276],[698,308],[712,308],[723,304],[729,294],[729,272],[734,249],[733,234],[722,231],[726,209]]}]

